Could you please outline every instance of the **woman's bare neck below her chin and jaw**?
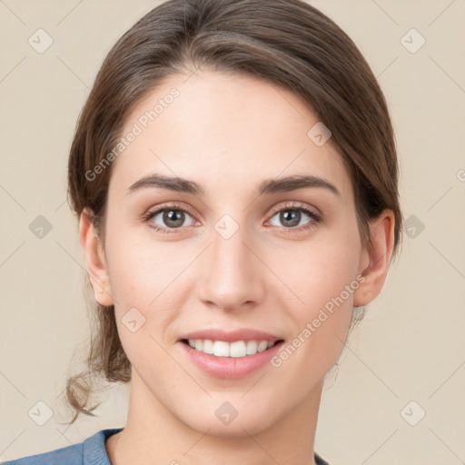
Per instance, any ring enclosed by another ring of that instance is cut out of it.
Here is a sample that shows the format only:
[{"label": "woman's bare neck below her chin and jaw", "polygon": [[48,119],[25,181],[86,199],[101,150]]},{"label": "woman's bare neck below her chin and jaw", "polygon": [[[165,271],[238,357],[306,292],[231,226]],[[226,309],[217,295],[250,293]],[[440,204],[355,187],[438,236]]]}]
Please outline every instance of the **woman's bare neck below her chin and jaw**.
[{"label": "woman's bare neck below her chin and jaw", "polygon": [[212,434],[208,426],[196,430],[173,415],[133,368],[126,426],[106,440],[105,447],[112,465],[216,465],[220,459],[222,465],[237,465],[238,461],[241,465],[315,465],[313,445],[322,384],[264,429],[245,428],[238,416],[232,434],[229,430]]}]

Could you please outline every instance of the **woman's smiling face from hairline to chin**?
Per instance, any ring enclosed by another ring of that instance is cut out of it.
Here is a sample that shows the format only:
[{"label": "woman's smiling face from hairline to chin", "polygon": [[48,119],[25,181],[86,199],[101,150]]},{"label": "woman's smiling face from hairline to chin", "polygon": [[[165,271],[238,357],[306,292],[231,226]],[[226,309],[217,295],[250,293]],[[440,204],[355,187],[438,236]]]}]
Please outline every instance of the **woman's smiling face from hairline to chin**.
[{"label": "woman's smiling face from hairline to chin", "polygon": [[307,134],[318,118],[299,97],[252,77],[186,79],[126,119],[137,134],[113,161],[99,301],[114,303],[132,390],[153,411],[254,433],[321,387],[370,259],[349,173],[331,138]]}]

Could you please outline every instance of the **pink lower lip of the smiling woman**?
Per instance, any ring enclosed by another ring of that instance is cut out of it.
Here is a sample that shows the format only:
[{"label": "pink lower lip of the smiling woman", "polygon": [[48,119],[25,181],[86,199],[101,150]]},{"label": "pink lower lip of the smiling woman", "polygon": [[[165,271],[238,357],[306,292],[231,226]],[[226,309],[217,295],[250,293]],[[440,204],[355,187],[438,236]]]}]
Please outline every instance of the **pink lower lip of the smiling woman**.
[{"label": "pink lower lip of the smiling woman", "polygon": [[280,341],[270,347],[270,349],[254,353],[253,355],[245,355],[244,357],[216,357],[203,351],[196,351],[190,345],[179,341],[183,346],[183,350],[195,365],[217,378],[242,378],[253,371],[259,370],[281,349],[282,342]]}]

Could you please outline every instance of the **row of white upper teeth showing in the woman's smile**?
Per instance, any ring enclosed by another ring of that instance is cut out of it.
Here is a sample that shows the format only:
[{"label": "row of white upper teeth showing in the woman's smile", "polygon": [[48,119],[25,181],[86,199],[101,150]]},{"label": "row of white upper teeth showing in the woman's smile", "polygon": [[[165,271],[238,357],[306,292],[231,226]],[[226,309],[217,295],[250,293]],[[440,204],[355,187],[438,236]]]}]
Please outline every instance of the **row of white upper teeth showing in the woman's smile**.
[{"label": "row of white upper teeth showing in the woman's smile", "polygon": [[189,339],[189,345],[196,351],[202,351],[216,357],[245,357],[272,347],[273,341],[212,341],[210,339]]}]

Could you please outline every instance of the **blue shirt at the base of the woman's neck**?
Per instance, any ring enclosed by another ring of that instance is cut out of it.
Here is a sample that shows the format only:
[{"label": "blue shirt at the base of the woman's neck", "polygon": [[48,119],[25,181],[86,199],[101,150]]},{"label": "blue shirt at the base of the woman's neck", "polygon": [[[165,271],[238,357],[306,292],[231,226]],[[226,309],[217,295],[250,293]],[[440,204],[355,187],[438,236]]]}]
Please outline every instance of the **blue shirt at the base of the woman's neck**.
[{"label": "blue shirt at the base of the woman's neck", "polygon": [[[105,440],[123,428],[100,430],[79,444],[3,462],[2,465],[112,465],[105,449]],[[315,452],[318,465],[329,463]]]}]

